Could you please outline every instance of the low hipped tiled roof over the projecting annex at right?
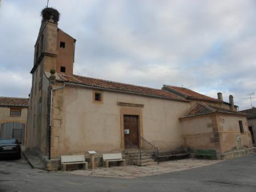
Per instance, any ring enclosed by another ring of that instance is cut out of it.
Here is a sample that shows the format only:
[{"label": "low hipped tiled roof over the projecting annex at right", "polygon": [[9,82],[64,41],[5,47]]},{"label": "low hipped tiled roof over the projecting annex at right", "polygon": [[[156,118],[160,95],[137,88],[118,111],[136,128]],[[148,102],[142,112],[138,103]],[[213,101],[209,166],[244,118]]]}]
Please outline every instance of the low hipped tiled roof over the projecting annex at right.
[{"label": "low hipped tiled roof over the projecting annex at right", "polygon": [[196,106],[192,107],[189,112],[183,115],[181,118],[189,118],[193,116],[207,115],[212,113],[221,113],[221,114],[230,114],[238,116],[247,116],[246,113],[240,111],[232,111],[225,108],[220,108],[216,106],[206,105],[205,103],[199,103]]}]

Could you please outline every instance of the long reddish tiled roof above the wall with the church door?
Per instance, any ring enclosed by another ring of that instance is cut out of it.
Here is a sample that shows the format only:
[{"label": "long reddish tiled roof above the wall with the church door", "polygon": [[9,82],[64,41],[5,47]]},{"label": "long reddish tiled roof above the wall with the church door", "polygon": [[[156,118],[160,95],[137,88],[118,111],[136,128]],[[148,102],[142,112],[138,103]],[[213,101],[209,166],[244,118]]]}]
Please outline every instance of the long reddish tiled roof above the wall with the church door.
[{"label": "long reddish tiled roof above the wall with the church door", "polygon": [[174,99],[179,101],[187,101],[186,99],[161,89],[152,89],[150,87],[136,86],[130,84],[122,84],[119,82],[100,80],[97,78],[82,77],[77,75],[58,74],[59,81],[72,82],[86,86],[98,87],[100,89],[108,89],[115,91],[125,91],[131,94],[143,94],[152,97],[161,97],[166,99]]}]

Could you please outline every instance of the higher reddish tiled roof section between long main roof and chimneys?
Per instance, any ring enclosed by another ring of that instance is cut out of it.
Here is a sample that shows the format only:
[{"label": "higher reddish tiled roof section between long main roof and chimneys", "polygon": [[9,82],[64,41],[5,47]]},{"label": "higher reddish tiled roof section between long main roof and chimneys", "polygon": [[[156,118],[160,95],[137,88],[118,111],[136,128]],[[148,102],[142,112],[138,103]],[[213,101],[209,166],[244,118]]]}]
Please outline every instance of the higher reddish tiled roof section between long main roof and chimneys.
[{"label": "higher reddish tiled roof section between long main roof and chimneys", "polygon": [[213,101],[213,102],[222,102],[219,99],[208,97],[207,95],[197,93],[196,91],[192,91],[192,90],[187,89],[185,87],[164,85],[163,89],[164,90],[170,90],[170,91],[173,90],[173,91],[177,92],[178,94],[180,93],[180,95],[184,95],[185,98],[187,98],[187,99],[203,99],[203,100],[208,100],[208,101]]}]

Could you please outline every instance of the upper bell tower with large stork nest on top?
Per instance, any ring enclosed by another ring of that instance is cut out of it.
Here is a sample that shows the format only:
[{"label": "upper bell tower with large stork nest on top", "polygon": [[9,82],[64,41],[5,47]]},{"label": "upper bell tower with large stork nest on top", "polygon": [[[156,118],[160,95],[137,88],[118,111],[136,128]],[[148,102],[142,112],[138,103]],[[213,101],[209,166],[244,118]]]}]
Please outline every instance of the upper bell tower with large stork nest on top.
[{"label": "upper bell tower with large stork nest on top", "polygon": [[35,43],[34,66],[31,73],[54,69],[57,73],[73,74],[76,40],[58,28],[59,11],[45,8],[41,12],[42,23]]}]

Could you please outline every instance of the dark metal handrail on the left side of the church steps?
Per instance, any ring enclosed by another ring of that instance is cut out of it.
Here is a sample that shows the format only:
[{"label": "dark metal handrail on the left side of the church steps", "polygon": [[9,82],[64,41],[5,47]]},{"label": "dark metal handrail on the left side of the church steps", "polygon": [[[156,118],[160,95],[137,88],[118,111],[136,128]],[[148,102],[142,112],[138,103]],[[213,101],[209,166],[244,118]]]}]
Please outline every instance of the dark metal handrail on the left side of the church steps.
[{"label": "dark metal handrail on the left side of the church steps", "polygon": [[133,143],[131,143],[126,138],[125,138],[125,141],[127,142],[126,144],[128,144],[125,147],[125,153],[131,156],[131,158],[133,158],[133,160],[135,161],[135,164],[141,166],[141,149],[138,148]]}]

